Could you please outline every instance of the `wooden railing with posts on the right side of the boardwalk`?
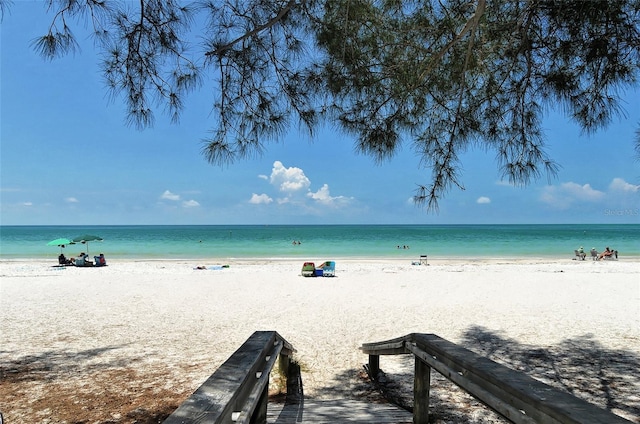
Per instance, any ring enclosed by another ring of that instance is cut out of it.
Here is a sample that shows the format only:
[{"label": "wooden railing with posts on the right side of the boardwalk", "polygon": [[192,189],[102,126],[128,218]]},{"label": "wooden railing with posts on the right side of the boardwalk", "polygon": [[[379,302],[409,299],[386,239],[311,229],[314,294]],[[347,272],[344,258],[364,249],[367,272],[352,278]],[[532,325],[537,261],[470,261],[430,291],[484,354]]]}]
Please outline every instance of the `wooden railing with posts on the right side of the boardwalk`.
[{"label": "wooden railing with posts on the right side of the boardwalk", "polygon": [[380,355],[415,356],[413,422],[427,423],[431,368],[513,423],[630,423],[582,399],[557,390],[434,334],[409,334],[365,343],[368,372],[376,379]]}]

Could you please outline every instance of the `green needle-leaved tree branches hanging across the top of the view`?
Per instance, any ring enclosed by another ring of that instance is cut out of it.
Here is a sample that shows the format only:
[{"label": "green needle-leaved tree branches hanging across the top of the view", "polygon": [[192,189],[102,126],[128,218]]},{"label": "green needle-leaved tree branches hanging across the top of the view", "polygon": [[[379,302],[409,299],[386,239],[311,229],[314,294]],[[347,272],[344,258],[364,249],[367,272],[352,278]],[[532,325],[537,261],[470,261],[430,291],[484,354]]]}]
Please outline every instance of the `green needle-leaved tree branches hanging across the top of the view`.
[{"label": "green needle-leaved tree branches hanging across the top of the view", "polygon": [[[0,0],[4,14],[6,0]],[[45,58],[75,50],[84,18],[103,49],[108,87],[132,124],[215,81],[203,154],[227,164],[259,154],[292,119],[356,138],[376,161],[410,142],[431,181],[415,200],[437,208],[463,188],[460,155],[496,153],[513,184],[553,176],[541,120],[560,105],[586,132],[622,112],[640,73],[640,0],[49,0],[34,42]],[[188,43],[197,36],[194,53]],[[197,52],[198,49],[195,49]],[[637,143],[640,149],[640,137]]]}]

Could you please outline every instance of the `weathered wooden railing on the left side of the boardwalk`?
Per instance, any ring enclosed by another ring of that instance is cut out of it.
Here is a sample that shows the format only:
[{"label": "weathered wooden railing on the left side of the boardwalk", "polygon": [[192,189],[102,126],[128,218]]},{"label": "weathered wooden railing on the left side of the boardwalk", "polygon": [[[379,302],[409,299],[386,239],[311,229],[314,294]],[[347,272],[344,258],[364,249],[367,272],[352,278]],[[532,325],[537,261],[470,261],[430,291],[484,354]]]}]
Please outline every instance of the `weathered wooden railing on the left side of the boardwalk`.
[{"label": "weathered wooden railing on the left side of the boardwalk", "polygon": [[275,331],[256,331],[164,424],[266,423],[269,374],[289,369],[293,347]]}]

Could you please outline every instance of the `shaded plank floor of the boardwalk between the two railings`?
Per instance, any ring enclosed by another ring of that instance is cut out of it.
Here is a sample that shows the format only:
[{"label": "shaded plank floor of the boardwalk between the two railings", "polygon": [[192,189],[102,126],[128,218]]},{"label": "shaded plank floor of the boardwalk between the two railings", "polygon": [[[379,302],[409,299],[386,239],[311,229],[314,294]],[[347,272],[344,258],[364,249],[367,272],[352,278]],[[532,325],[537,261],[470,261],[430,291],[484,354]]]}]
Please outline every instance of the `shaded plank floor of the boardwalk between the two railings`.
[{"label": "shaded plank floor of the boardwalk between the two railings", "polygon": [[299,404],[269,402],[269,424],[411,424],[413,415],[391,403],[370,403],[358,400],[303,400]]}]

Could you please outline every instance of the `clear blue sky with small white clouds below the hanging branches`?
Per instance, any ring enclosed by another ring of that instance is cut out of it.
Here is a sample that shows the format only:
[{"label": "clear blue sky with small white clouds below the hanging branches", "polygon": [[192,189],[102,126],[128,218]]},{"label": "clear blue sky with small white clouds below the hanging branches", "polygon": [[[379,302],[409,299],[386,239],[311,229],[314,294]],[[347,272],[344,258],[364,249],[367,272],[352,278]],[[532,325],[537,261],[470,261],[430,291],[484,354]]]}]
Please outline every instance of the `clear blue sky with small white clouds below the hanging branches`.
[{"label": "clear blue sky with small white clouds below the hanging branches", "polygon": [[429,213],[411,201],[431,174],[410,143],[376,164],[345,134],[309,139],[294,126],[259,157],[213,166],[200,153],[213,125],[206,89],[177,125],[159,110],[153,128],[127,126],[82,25],[81,51],[52,62],[33,51],[50,20],[43,2],[17,1],[0,24],[2,225],[640,223],[638,88],[624,94],[625,116],[591,136],[549,111],[556,178],[513,187],[494,152],[470,151],[465,190]]}]

